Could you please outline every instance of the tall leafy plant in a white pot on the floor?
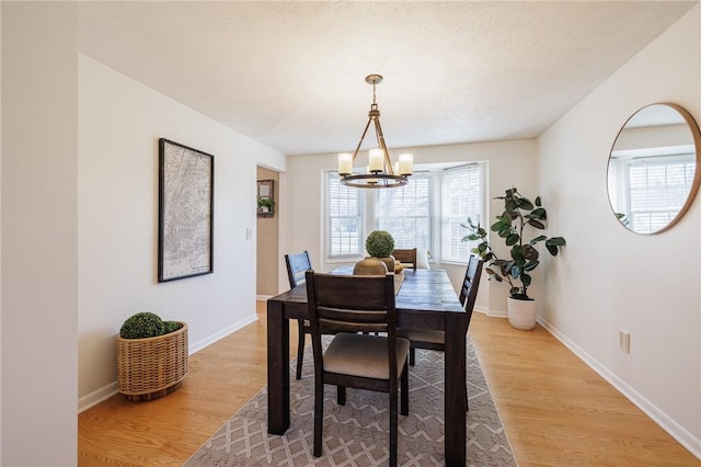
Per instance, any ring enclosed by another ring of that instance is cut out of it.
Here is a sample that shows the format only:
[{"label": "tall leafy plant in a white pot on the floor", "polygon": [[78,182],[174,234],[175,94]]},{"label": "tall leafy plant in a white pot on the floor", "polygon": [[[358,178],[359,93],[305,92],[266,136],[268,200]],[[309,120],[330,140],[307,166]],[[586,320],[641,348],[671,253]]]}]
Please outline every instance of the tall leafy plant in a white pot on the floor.
[{"label": "tall leafy plant in a white pot on the floor", "polygon": [[548,238],[544,235],[533,237],[529,241],[525,239],[527,227],[537,230],[545,228],[548,215],[540,196],[531,202],[513,187],[506,190],[504,196],[497,196],[495,200],[504,201],[504,212],[496,216],[496,221],[490,229],[497,232],[506,246],[510,247],[510,258],[499,258],[487,240],[486,230],[472,219],[468,219],[468,225],[462,226],[470,230],[462,240],[480,242],[472,252],[485,262],[490,280],[507,282],[510,286],[507,300],[509,322],[517,329],[529,330],[536,326],[537,317],[536,301],[528,296],[528,287],[532,281],[531,272],[540,264],[537,247],[542,242],[548,252],[556,257],[560,248],[566,242],[563,237]]}]

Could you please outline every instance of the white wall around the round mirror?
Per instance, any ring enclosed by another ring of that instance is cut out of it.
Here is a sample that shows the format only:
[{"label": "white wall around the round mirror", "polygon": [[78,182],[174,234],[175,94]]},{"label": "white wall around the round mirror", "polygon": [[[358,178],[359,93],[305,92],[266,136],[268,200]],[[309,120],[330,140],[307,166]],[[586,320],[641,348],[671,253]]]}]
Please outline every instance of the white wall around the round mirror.
[{"label": "white wall around the round mirror", "polygon": [[[674,102],[701,118],[700,9],[633,57],[540,138],[540,191],[553,231],[541,319],[701,456],[701,201],[669,231],[635,235],[607,198],[607,160],[637,109]],[[701,169],[701,168],[700,168]],[[619,331],[631,333],[631,353]]]}]

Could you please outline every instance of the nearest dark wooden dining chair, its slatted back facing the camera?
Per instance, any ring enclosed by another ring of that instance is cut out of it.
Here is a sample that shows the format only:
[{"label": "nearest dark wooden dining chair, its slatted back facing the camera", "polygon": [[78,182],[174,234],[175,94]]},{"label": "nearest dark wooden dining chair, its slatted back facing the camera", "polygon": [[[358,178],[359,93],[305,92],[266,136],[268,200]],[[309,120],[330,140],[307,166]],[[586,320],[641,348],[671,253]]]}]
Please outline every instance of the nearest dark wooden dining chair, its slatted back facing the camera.
[{"label": "nearest dark wooden dining chair, its slatted back facing the camera", "polygon": [[[325,385],[336,386],[336,403],[346,387],[389,394],[390,466],[397,466],[398,401],[409,414],[409,349],[397,337],[394,276],[353,276],[307,271],[307,303],[314,353],[314,446],[322,454]],[[358,333],[364,332],[364,333]],[[382,332],[387,335],[369,335]],[[324,351],[321,335],[335,333]],[[400,383],[401,379],[401,383]],[[401,390],[400,390],[401,384]],[[399,392],[399,395],[398,395]]]}]

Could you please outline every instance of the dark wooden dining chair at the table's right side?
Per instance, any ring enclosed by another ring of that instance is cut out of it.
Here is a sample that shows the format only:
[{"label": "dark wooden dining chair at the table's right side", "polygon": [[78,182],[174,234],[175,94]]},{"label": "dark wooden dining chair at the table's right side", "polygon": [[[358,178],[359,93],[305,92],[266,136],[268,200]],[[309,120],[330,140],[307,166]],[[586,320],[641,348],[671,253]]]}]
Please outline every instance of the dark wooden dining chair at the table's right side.
[{"label": "dark wooden dining chair at the table's right side", "polygon": [[[474,255],[470,255],[468,261],[468,267],[464,272],[464,278],[460,287],[460,304],[464,307],[468,315],[468,326],[470,327],[470,320],[472,318],[472,310],[474,308],[474,301],[478,296],[478,288],[480,286],[480,277],[482,276],[483,261]],[[446,351],[446,334],[443,331],[421,331],[421,330],[407,330],[398,329],[397,335],[409,339],[411,341],[411,349],[409,352],[409,364],[415,364],[416,349],[434,350],[439,352]],[[467,400],[466,392],[466,400]],[[468,407],[469,409],[469,407]]]}]

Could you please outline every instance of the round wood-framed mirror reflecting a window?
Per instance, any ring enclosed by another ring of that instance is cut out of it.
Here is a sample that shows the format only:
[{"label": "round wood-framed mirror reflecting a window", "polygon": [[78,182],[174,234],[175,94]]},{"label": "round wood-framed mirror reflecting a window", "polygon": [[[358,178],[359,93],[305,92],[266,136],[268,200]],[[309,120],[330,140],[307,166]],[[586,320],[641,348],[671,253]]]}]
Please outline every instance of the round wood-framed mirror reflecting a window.
[{"label": "round wood-framed mirror reflecting a window", "polygon": [[676,104],[647,105],[621,128],[609,157],[613,214],[629,230],[658,234],[689,209],[699,190],[701,136]]}]

